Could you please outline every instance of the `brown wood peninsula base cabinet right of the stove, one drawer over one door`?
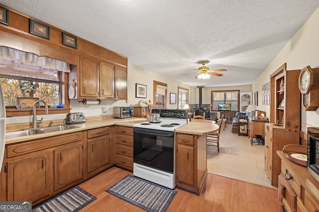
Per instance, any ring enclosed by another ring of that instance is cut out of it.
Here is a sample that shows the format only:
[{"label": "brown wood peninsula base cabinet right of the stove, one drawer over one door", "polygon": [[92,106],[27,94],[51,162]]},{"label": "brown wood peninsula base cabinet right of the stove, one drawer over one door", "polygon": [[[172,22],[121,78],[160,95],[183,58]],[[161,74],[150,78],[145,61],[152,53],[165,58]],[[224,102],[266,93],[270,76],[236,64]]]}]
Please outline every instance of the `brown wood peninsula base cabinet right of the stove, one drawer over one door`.
[{"label": "brown wood peninsula base cabinet right of the stove, one drawer over one door", "polygon": [[176,134],[176,186],[201,194],[207,171],[206,135]]}]

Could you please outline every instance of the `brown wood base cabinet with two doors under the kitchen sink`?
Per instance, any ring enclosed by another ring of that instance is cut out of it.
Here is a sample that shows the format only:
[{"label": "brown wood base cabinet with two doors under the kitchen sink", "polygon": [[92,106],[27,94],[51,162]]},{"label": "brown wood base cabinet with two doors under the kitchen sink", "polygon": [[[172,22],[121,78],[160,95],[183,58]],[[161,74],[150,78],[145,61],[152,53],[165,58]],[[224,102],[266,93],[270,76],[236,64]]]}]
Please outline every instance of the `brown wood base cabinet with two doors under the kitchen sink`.
[{"label": "brown wood base cabinet with two doors under the kitchen sink", "polygon": [[[6,146],[1,201],[37,204],[83,180],[83,132]],[[1,180],[1,184],[2,184]]]}]

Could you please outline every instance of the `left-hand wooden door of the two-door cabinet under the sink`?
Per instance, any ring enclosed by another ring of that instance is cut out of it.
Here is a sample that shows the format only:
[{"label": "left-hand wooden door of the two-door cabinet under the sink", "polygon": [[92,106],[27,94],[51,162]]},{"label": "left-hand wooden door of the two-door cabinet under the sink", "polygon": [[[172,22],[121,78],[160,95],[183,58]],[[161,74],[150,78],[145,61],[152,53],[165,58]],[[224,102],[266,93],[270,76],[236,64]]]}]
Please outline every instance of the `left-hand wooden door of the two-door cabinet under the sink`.
[{"label": "left-hand wooden door of the two-door cabinet under the sink", "polygon": [[51,190],[52,152],[8,162],[7,201],[35,201]]}]

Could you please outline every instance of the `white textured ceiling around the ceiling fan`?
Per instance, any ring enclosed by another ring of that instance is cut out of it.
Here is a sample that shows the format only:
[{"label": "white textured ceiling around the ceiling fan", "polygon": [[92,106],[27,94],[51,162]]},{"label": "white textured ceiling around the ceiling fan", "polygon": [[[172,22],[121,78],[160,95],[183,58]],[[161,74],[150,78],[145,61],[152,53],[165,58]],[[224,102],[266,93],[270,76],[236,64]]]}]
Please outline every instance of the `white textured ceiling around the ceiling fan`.
[{"label": "white textured ceiling around the ceiling fan", "polygon": [[[190,86],[251,84],[319,0],[0,0]],[[227,69],[196,79],[199,61]]]}]

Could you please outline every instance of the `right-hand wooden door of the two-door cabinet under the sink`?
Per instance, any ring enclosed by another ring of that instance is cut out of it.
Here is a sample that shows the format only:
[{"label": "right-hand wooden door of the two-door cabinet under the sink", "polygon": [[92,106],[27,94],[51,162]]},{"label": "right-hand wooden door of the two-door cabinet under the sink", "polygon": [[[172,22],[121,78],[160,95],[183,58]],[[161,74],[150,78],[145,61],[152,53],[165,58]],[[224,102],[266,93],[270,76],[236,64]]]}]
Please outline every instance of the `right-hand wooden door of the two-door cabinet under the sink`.
[{"label": "right-hand wooden door of the two-door cabinet under the sink", "polygon": [[54,150],[54,191],[83,177],[82,141]]}]

